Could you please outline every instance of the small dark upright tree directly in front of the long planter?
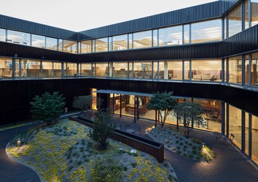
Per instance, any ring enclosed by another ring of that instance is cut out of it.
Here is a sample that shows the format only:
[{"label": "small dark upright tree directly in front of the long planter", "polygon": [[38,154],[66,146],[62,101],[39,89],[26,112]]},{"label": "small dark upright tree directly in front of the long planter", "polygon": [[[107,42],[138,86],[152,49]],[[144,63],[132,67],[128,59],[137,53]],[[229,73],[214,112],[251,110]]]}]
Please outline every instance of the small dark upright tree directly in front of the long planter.
[{"label": "small dark upright tree directly in front of the long planter", "polygon": [[115,126],[110,125],[109,121],[111,119],[110,112],[97,112],[94,121],[94,127],[90,130],[90,137],[99,143],[99,149],[104,150],[108,146],[108,137],[111,136],[114,131]]}]

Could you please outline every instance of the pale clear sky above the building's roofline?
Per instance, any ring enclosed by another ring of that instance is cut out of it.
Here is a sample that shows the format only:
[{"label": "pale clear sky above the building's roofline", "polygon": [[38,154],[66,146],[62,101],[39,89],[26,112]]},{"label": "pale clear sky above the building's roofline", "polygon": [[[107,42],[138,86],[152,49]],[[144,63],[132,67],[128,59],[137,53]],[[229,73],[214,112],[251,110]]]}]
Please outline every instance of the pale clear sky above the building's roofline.
[{"label": "pale clear sky above the building's roofline", "polygon": [[211,1],[0,0],[0,14],[82,31],[209,2]]}]

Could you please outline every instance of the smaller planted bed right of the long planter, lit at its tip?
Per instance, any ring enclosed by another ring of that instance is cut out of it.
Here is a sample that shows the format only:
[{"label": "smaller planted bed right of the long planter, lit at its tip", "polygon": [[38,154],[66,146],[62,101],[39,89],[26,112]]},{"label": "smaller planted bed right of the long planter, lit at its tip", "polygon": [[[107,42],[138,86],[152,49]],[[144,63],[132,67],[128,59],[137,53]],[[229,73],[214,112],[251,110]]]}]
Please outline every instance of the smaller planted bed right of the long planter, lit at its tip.
[{"label": "smaller planted bed right of the long planter, lit at its tip", "polygon": [[172,128],[149,128],[147,134],[155,141],[163,143],[168,150],[177,152],[177,154],[189,159],[210,162],[215,157],[215,153],[200,140],[187,139]]}]

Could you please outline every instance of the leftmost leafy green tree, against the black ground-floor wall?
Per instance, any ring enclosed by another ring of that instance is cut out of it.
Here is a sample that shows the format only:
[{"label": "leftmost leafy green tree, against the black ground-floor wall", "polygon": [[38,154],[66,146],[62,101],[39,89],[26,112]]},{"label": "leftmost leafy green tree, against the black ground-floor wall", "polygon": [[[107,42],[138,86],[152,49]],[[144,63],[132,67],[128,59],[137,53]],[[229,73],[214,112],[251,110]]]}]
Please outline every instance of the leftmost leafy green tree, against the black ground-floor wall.
[{"label": "leftmost leafy green tree, against the black ground-floor wall", "polygon": [[63,100],[63,95],[59,94],[59,92],[54,92],[53,94],[45,92],[41,96],[36,95],[33,101],[30,102],[32,117],[50,125],[63,112],[63,107],[66,105]]}]

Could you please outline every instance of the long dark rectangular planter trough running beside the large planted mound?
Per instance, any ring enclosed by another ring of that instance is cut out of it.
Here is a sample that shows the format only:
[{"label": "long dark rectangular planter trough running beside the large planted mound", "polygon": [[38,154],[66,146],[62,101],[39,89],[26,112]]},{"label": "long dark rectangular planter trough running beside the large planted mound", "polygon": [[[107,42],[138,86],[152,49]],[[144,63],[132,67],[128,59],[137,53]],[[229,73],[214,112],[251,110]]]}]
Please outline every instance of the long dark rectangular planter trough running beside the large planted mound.
[{"label": "long dark rectangular planter trough running beside the large planted mound", "polygon": [[[87,125],[90,128],[92,128],[94,125],[92,121],[89,122],[87,119],[83,119],[83,121],[76,117],[69,117],[69,119],[72,121],[77,121],[83,125]],[[121,132],[123,131],[115,130],[111,138],[115,139],[116,141],[125,143],[126,145],[129,145],[132,148],[141,150],[142,152],[146,152],[147,154],[154,156],[157,159],[157,161],[159,161],[159,163],[162,163],[164,161],[164,145],[162,143],[150,141],[148,139],[142,138],[141,136],[136,136],[135,134],[129,134],[124,132],[126,135],[128,135],[126,136],[125,134],[121,134]],[[141,141],[141,139],[146,142]],[[147,143],[148,141],[157,144],[158,147]]]}]

